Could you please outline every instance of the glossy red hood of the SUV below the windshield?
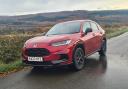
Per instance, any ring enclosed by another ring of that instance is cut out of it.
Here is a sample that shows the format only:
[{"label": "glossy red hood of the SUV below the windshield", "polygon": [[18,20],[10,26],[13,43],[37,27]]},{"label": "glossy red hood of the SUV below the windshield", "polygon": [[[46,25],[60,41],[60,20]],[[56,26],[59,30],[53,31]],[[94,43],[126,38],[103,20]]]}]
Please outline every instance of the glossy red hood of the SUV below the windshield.
[{"label": "glossy red hood of the SUV below the windshield", "polygon": [[59,42],[63,40],[77,40],[80,37],[80,33],[76,34],[64,34],[64,35],[51,35],[51,36],[39,36],[29,39],[26,44],[33,45],[33,44],[42,44],[48,45],[50,43]]}]

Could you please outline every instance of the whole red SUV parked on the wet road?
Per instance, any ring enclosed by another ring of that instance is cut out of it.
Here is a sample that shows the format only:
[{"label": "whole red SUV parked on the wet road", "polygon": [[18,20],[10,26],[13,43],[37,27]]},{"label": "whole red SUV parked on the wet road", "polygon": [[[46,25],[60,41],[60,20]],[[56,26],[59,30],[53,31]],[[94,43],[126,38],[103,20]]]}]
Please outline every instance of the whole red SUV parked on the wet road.
[{"label": "whole red SUV parked on the wet road", "polygon": [[53,26],[45,36],[34,37],[24,44],[23,63],[31,66],[72,65],[84,67],[86,57],[106,54],[105,31],[91,20],[74,20]]}]

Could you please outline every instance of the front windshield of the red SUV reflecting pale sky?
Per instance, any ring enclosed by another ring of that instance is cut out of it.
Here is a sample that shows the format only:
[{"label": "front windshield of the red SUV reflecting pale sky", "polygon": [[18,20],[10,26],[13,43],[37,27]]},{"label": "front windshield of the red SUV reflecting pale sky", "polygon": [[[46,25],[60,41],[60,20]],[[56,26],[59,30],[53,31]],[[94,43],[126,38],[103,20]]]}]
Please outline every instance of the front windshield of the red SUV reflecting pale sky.
[{"label": "front windshield of the red SUV reflecting pale sky", "polygon": [[78,32],[80,32],[80,22],[69,22],[53,26],[46,35],[73,34]]}]

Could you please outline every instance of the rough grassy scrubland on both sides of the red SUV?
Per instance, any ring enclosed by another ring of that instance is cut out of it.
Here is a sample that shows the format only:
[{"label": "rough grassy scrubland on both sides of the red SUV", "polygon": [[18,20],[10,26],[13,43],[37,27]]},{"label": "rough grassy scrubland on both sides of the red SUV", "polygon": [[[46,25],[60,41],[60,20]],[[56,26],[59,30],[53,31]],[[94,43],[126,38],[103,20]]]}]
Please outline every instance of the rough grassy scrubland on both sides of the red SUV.
[{"label": "rough grassy scrubland on both sides of the red SUV", "polygon": [[[50,27],[48,27],[50,28]],[[107,38],[115,37],[128,31],[128,26],[104,26]],[[13,33],[0,35],[0,74],[17,71],[24,68],[21,61],[21,48],[24,42],[37,35],[41,35],[45,30],[38,30],[29,33]]]}]

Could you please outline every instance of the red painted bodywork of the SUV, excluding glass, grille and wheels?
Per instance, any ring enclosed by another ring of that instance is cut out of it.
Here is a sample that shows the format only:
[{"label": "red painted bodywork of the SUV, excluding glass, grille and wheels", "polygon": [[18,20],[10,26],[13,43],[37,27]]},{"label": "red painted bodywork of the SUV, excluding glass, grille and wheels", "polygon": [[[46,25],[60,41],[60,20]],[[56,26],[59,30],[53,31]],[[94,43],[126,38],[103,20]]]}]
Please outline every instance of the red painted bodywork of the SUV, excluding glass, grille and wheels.
[{"label": "red painted bodywork of the SUV, excluding glass, grille and wheels", "polygon": [[[53,60],[61,60],[59,54],[66,54],[68,59],[60,65],[67,65],[72,63],[73,50],[78,44],[84,46],[85,56],[89,56],[97,51],[99,51],[102,40],[105,37],[105,31],[99,28],[99,32],[90,32],[87,35],[83,33],[83,23],[91,20],[77,20],[81,23],[81,28],[79,33],[75,34],[63,34],[63,35],[52,35],[52,36],[39,36],[29,39],[25,43],[25,47],[22,49],[23,61],[28,60],[28,56],[25,54],[25,50],[29,48],[46,48],[49,50],[50,55],[43,56],[45,62]],[[72,21],[68,22],[71,23]],[[97,23],[96,23],[97,24]],[[59,42],[63,40],[70,39],[71,43],[65,46],[51,46],[53,42]],[[34,45],[36,44],[36,47]],[[37,65],[38,66],[38,65]]]}]

